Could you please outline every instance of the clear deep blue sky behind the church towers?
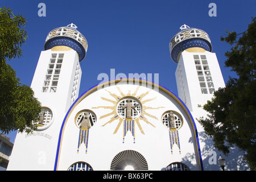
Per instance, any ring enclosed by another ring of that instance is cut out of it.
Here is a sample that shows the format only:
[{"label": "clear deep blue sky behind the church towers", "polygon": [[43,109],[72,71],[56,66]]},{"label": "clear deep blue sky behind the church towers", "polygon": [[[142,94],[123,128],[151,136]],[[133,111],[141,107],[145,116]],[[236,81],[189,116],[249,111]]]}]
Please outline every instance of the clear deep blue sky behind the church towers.
[{"label": "clear deep blue sky behind the church towers", "polygon": [[[46,16],[38,16],[38,4],[46,4]],[[217,16],[210,17],[209,3],[216,3]],[[177,94],[176,63],[171,60],[169,43],[187,24],[206,31],[225,82],[235,76],[224,67],[224,53],[230,49],[220,36],[225,29],[238,33],[247,29],[256,15],[255,0],[84,0],[84,1],[14,1],[1,0],[14,14],[27,19],[28,39],[22,46],[23,57],[9,61],[21,82],[31,85],[40,52],[53,28],[76,24],[88,41],[88,52],[81,62],[80,94],[100,82],[97,76],[110,69],[115,74],[159,73],[159,83]],[[153,77],[154,78],[154,77]],[[14,142],[15,133],[9,135]]]}]

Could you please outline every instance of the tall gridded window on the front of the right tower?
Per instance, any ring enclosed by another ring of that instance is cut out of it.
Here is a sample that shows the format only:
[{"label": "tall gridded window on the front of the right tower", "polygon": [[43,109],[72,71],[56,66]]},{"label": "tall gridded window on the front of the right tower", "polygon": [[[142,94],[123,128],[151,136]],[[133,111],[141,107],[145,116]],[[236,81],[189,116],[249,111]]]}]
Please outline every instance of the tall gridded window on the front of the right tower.
[{"label": "tall gridded window on the front of the right tower", "polygon": [[202,94],[215,92],[210,69],[205,55],[193,55]]}]

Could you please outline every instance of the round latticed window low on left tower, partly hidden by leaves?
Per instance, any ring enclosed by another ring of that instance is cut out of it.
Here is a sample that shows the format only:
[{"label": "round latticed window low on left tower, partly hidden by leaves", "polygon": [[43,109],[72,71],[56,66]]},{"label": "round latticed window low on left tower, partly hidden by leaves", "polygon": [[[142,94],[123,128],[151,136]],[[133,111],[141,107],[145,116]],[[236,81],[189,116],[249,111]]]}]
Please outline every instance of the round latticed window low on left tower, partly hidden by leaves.
[{"label": "round latticed window low on left tower, partly hidden by leaves", "polygon": [[48,107],[42,107],[41,113],[39,114],[39,121],[37,123],[38,125],[38,130],[44,130],[47,129],[53,119],[52,119],[52,110],[49,109]]}]

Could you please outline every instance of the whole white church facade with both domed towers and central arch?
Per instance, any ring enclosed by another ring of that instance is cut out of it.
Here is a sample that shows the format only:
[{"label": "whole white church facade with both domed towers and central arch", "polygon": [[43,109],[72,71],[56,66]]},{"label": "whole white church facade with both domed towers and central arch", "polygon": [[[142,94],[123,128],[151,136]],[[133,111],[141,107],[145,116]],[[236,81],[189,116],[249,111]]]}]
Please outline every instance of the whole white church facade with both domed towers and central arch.
[{"label": "whole white church facade with both domed towers and central arch", "polygon": [[218,170],[196,118],[225,83],[208,34],[180,29],[170,42],[179,97],[140,78],[79,96],[88,43],[75,24],[49,32],[31,84],[42,103],[38,130],[16,135],[7,170]]}]

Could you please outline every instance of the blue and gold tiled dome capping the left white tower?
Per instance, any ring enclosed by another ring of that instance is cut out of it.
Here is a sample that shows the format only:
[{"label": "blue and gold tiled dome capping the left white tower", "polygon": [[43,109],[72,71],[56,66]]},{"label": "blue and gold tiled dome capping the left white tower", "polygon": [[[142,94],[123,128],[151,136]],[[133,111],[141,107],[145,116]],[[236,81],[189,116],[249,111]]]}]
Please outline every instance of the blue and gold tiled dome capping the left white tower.
[{"label": "blue and gold tiled dome capping the left white tower", "polygon": [[85,37],[77,31],[76,28],[77,26],[71,23],[68,26],[53,29],[47,35],[44,49],[48,50],[55,48],[54,50],[63,50],[63,47],[73,49],[77,52],[79,61],[82,61],[85,58],[88,43]]}]

